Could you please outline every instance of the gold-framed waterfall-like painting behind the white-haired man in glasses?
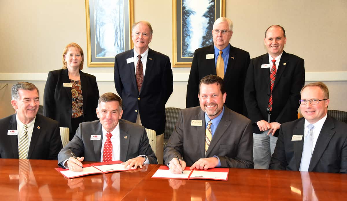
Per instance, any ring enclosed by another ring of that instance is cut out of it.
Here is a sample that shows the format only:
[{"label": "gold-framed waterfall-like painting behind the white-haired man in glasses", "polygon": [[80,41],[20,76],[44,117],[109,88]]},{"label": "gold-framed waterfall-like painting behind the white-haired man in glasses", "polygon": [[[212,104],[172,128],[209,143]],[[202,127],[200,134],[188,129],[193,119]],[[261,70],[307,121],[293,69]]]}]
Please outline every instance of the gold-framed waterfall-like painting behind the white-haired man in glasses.
[{"label": "gold-framed waterfall-like painting behind the white-haired man in glasses", "polygon": [[194,51],[212,45],[213,23],[225,0],[173,0],[173,67],[191,67]]}]

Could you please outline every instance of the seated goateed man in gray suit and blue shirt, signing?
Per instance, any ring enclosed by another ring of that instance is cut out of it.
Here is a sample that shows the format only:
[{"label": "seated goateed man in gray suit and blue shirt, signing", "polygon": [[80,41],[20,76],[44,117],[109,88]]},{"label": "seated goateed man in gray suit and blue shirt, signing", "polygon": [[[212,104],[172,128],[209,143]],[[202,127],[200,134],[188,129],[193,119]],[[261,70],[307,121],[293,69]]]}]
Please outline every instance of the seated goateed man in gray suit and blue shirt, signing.
[{"label": "seated goateed man in gray suit and blue shirt, signing", "polygon": [[181,111],[164,151],[172,173],[181,173],[186,165],[253,168],[252,123],[223,105],[226,96],[222,78],[207,75],[200,80],[200,107]]}]

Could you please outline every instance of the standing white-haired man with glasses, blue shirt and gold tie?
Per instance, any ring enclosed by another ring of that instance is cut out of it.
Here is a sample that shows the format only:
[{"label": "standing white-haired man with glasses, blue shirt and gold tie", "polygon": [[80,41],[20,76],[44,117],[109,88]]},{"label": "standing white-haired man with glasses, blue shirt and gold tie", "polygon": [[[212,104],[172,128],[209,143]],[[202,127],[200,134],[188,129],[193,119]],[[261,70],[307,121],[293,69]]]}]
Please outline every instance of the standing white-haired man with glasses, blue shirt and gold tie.
[{"label": "standing white-haired man with glasses, blue shirt and gold tie", "polygon": [[[187,85],[187,108],[199,105],[197,94],[200,79],[206,75],[218,75],[223,78],[228,94],[226,106],[237,113],[246,114],[243,89],[250,57],[248,52],[229,44],[231,36],[232,21],[225,17],[218,18],[212,30],[214,45],[195,50]],[[223,75],[219,75],[216,70],[220,50],[223,52]]]}]

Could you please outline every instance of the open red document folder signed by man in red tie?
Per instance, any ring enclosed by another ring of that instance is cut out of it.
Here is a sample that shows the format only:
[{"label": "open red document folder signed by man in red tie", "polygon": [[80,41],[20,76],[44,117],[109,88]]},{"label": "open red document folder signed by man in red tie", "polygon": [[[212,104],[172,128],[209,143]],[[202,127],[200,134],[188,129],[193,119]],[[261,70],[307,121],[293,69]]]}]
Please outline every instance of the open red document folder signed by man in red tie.
[{"label": "open red document folder signed by man in red tie", "polygon": [[122,161],[110,161],[110,162],[100,162],[100,163],[91,163],[84,164],[82,172],[73,172],[64,168],[56,168],[60,174],[64,175],[65,178],[71,179],[79,176],[89,175],[89,174],[105,174],[108,172],[118,172],[118,171],[127,171],[127,170],[135,170],[134,167],[130,169],[125,169],[123,165],[121,165]]}]

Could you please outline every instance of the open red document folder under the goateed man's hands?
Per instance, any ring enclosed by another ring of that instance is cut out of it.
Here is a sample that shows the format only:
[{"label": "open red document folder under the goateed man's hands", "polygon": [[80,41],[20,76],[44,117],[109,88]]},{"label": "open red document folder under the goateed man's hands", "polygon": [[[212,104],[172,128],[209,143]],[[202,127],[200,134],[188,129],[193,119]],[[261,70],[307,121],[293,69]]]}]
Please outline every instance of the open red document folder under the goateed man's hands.
[{"label": "open red document folder under the goateed man's hands", "polygon": [[189,170],[189,167],[184,169],[184,174],[172,174],[169,167],[162,165],[153,174],[152,178],[162,179],[211,179],[228,181],[229,168],[211,168],[207,170]]}]

